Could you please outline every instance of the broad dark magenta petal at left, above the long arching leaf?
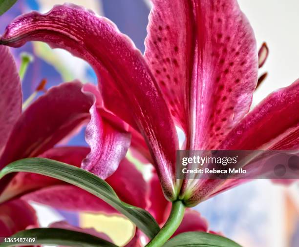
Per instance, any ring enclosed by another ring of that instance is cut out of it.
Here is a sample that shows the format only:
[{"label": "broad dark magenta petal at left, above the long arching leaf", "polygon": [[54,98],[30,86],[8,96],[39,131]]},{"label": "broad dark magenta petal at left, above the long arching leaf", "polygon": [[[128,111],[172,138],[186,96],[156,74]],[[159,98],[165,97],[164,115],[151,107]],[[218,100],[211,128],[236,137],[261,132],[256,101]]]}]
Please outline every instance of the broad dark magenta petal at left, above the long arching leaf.
[{"label": "broad dark magenta petal at left, above the long arching leaf", "polygon": [[42,154],[86,121],[93,99],[81,88],[80,82],[63,83],[32,103],[15,124],[0,167]]}]

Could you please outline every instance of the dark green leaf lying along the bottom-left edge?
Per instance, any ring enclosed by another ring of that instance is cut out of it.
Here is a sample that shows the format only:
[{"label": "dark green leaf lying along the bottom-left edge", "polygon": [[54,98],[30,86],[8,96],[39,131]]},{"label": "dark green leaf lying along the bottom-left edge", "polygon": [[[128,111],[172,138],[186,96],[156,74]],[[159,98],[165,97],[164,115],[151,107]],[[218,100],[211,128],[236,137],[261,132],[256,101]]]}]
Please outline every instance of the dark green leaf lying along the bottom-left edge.
[{"label": "dark green leaf lying along the bottom-left edge", "polygon": [[58,245],[74,247],[117,247],[116,245],[96,236],[66,229],[35,228],[19,231],[10,238],[36,238],[34,243],[2,242],[0,247],[32,246],[32,245]]}]

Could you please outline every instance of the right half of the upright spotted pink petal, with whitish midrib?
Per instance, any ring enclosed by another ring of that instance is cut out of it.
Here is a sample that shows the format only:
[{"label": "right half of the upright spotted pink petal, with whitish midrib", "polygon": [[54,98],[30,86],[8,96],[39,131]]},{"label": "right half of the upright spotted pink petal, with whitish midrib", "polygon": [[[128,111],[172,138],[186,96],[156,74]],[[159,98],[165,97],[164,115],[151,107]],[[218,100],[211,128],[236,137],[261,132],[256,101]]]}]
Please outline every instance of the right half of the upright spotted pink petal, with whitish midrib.
[{"label": "right half of the upright spotted pink petal, with whitish midrib", "polygon": [[236,0],[195,2],[191,147],[213,149],[249,111],[257,82],[256,40]]}]

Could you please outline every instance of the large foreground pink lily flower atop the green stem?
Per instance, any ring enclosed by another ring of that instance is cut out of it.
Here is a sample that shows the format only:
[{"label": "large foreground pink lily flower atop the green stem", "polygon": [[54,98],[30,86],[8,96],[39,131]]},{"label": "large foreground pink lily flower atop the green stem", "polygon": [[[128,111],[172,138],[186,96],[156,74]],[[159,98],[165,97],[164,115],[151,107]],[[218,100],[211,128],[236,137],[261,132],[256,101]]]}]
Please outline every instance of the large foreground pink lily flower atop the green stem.
[{"label": "large foreground pink lily flower atop the green stem", "polygon": [[170,201],[194,206],[242,182],[176,180],[175,125],[185,132],[185,149],[298,146],[299,81],[249,112],[258,56],[235,0],[153,0],[148,33],[143,57],[106,18],[65,4],[17,18],[1,43],[44,41],[89,62],[105,107],[144,137]]}]

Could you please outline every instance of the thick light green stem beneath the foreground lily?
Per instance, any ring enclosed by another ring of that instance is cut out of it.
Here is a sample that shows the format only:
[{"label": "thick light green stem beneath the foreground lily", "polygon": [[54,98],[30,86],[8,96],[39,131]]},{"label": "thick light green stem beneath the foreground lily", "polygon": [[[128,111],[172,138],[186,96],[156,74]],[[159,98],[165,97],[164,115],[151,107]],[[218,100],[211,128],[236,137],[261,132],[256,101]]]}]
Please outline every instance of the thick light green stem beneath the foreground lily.
[{"label": "thick light green stem beneath the foreground lily", "polygon": [[158,234],[149,242],[149,244],[146,245],[146,247],[163,246],[181,224],[184,217],[184,212],[185,206],[182,201],[173,202],[171,213],[167,222],[158,232]]}]

